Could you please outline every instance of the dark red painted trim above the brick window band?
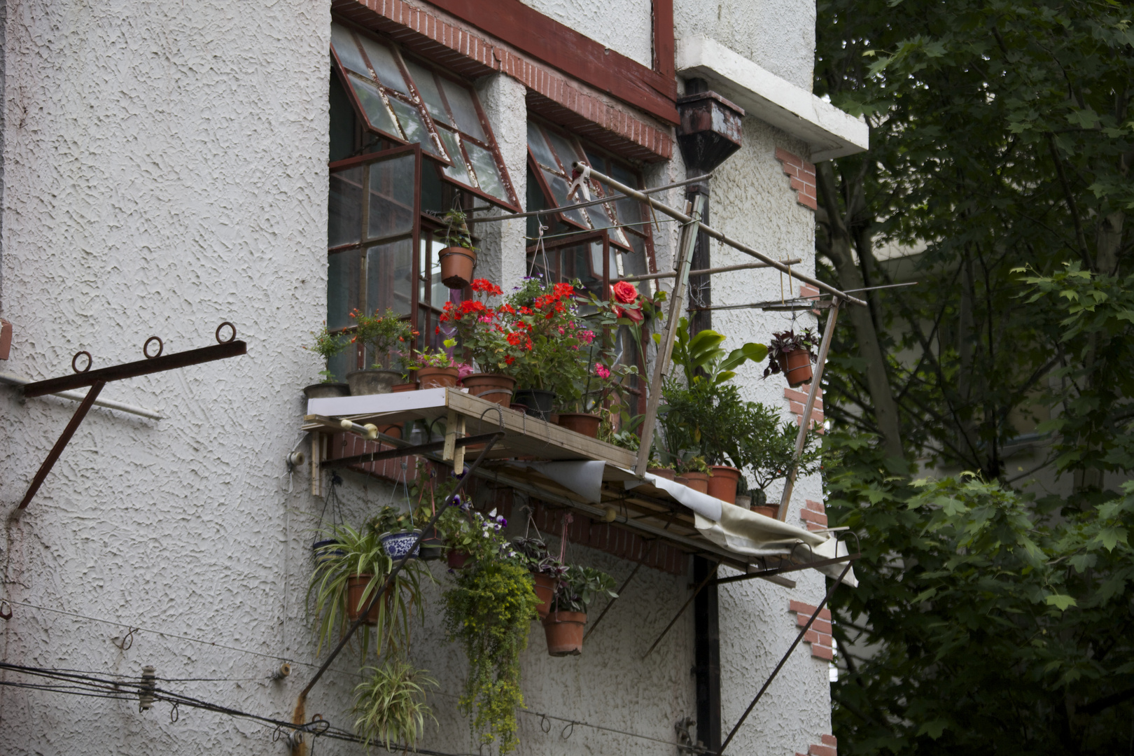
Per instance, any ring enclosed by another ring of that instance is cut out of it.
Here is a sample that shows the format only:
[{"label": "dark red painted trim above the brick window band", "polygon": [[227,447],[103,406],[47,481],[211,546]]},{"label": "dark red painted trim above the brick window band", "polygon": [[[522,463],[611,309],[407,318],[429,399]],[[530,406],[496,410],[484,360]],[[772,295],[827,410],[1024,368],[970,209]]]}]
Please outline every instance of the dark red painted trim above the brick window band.
[{"label": "dark red painted trim above the brick window band", "polygon": [[[558,68],[661,120],[676,125],[677,83],[674,75],[646,68],[589,36],[525,6],[519,0],[429,0],[457,18],[483,29],[521,52]],[[668,9],[667,7],[668,6]],[[660,12],[659,12],[660,11]],[[657,0],[655,34],[668,16],[668,34],[657,39],[655,57],[674,67],[672,0]],[[668,52],[666,50],[668,40]]]}]

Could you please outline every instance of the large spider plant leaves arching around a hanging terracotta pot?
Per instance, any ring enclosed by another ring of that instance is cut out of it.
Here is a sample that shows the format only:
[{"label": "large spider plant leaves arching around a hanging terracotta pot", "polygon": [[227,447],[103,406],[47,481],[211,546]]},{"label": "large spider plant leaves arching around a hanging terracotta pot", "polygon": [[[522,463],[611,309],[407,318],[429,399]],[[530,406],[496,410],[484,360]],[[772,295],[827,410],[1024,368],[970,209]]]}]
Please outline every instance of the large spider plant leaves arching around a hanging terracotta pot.
[{"label": "large spider plant leaves arching around a hanging terracotta pot", "polygon": [[[307,585],[308,615],[318,618],[315,632],[319,638],[316,653],[323,645],[331,645],[350,626],[347,618],[347,588],[350,578],[370,576],[362,593],[359,606],[365,610],[374,593],[386,584],[393,569],[393,560],[387,557],[379,538],[376,523],[367,523],[361,528],[336,525],[324,530],[331,543],[320,546],[315,554],[315,569]],[[375,649],[379,654],[387,648],[403,648],[409,639],[409,618],[418,614],[424,622],[422,602],[422,575],[431,579],[417,560],[411,560],[398,572],[386,597],[378,602],[378,623],[373,628]],[[362,627],[362,653],[371,643],[370,626]]]}]

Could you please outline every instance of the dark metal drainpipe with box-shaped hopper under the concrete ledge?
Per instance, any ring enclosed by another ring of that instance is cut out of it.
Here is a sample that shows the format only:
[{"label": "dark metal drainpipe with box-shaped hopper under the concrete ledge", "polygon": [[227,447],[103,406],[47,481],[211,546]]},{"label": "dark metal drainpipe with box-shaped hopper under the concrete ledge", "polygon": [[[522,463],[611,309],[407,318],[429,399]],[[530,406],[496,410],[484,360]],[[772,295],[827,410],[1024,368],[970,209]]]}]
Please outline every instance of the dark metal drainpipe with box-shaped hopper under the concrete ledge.
[{"label": "dark metal drainpipe with box-shaped hopper under the concrete ledge", "polygon": [[[709,91],[704,79],[685,82],[685,95],[678,101],[682,124],[677,130],[677,143],[685,161],[686,178],[711,172],[741,147],[741,118],[744,111]],[[689,199],[697,194],[704,196],[701,220],[710,222],[709,185],[693,184],[686,190]],[[709,252],[709,235],[697,235],[693,249],[693,270],[712,267]],[[691,306],[708,307],[712,304],[711,277],[689,278],[688,301]],[[696,333],[712,328],[712,312],[708,309],[689,313],[689,332]],[[693,583],[701,585],[716,562],[702,557],[693,558]],[[694,666],[696,685],[696,739],[710,753],[720,749],[720,615],[717,586],[710,584],[694,601]]]}]

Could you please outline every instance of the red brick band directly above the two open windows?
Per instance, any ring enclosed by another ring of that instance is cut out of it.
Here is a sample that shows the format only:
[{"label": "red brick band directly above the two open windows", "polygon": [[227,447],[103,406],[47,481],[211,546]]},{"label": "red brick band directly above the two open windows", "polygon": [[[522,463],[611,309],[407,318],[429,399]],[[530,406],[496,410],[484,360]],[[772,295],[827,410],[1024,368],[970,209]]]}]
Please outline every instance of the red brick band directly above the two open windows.
[{"label": "red brick band directly above the two open windows", "polygon": [[519,53],[439,8],[405,0],[333,0],[331,10],[359,26],[383,32],[412,52],[469,78],[492,71],[507,74],[527,87],[527,104],[534,112],[624,158],[657,162],[674,154],[668,126]]}]

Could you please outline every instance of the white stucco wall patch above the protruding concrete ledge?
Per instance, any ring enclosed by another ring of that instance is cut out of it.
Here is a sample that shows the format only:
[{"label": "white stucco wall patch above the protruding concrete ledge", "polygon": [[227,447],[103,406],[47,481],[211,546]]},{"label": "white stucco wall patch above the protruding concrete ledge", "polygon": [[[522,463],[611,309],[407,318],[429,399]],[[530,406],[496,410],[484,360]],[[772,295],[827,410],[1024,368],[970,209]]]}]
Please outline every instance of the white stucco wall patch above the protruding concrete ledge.
[{"label": "white stucco wall patch above the protruding concrete ledge", "polygon": [[811,92],[814,0],[674,0],[674,36],[696,35]]}]

